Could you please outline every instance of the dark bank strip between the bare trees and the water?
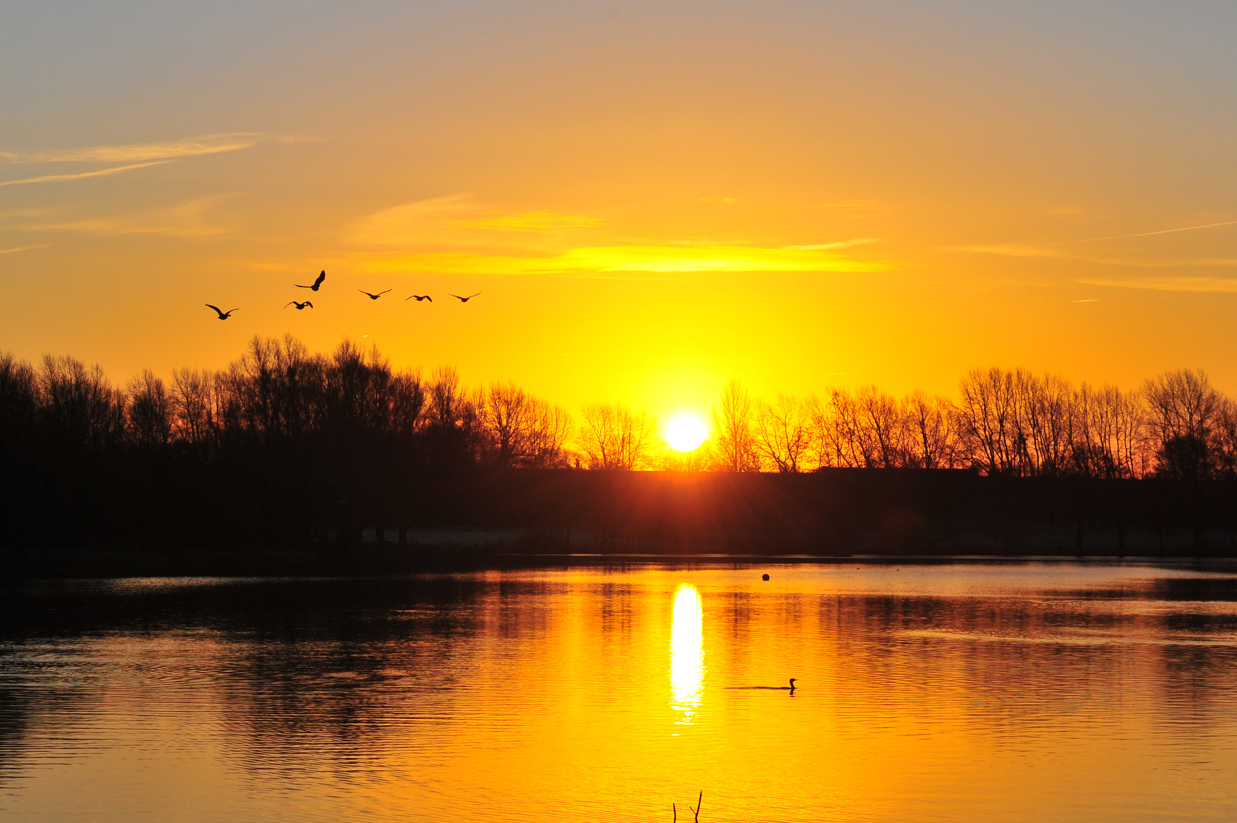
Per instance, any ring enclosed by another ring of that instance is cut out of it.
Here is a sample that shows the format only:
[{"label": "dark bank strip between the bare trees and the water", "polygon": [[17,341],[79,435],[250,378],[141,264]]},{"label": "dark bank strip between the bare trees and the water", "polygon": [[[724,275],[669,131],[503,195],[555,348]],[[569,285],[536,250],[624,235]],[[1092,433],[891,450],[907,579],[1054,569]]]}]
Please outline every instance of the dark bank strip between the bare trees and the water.
[{"label": "dark bank strip between the bare trees and the water", "polygon": [[375,467],[315,489],[256,469],[126,470],[10,505],[7,574],[370,574],[562,556],[1237,556],[1232,481]]}]

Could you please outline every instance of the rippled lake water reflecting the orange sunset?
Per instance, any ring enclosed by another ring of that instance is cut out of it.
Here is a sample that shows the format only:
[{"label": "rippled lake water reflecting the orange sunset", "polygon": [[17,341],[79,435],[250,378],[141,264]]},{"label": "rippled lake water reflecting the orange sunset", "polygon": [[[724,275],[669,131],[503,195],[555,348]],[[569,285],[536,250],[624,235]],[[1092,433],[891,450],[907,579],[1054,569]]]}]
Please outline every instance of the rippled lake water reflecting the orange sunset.
[{"label": "rippled lake water reflecting the orange sunset", "polygon": [[28,584],[0,816],[1233,821],[1232,568]]}]

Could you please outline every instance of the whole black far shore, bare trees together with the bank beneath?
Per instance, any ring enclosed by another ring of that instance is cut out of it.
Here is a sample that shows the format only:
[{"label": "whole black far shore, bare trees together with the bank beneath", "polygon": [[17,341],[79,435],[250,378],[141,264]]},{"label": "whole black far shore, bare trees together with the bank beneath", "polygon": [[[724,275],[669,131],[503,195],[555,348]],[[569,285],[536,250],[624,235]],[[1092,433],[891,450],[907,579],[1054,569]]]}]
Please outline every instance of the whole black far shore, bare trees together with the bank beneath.
[{"label": "whole black far shore, bare trees together with the bank beneath", "polygon": [[711,437],[678,453],[644,411],[573,418],[511,382],[397,369],[349,340],[312,353],[255,337],[224,369],[122,386],[73,358],[0,354],[0,571],[106,572],[45,551],[58,548],[116,569],[215,568],[202,558],[221,553],[223,569],[278,571],[287,551],[354,571],[322,549],[474,525],[520,531],[529,551],[852,551],[872,533],[928,551],[978,528],[1008,532],[1013,552],[1029,517],[1072,524],[1077,548],[1108,522],[1118,548],[1128,527],[1176,551],[1184,528],[1190,551],[1212,551],[1237,533],[1237,484],[1216,483],[1237,479],[1235,410],[1191,370],[1138,391],[975,370],[957,400],[867,386],[764,401],[731,381]]}]

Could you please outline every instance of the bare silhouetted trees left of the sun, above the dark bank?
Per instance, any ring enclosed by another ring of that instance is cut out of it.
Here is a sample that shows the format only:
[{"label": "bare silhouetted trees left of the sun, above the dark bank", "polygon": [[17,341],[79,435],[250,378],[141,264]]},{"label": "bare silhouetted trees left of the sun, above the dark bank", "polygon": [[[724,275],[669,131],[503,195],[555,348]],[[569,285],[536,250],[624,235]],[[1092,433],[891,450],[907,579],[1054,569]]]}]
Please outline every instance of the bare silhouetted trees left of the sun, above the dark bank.
[{"label": "bare silhouetted trees left of the sun, above the dark bank", "polygon": [[450,366],[423,377],[349,340],[310,353],[255,337],[210,371],[151,371],[124,389],[67,356],[38,368],[0,354],[0,438],[53,450],[171,452],[212,462],[288,444],[379,441],[427,465],[563,468],[570,416],[513,384],[468,390]]}]

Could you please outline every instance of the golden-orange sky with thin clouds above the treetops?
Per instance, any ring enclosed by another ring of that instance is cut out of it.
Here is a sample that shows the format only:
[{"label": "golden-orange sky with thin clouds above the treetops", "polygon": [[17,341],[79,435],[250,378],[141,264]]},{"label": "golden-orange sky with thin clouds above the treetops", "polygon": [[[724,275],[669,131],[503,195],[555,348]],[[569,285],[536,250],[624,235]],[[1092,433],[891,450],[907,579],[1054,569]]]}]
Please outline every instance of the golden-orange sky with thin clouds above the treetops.
[{"label": "golden-orange sky with thin clouds above the treetops", "polygon": [[1237,390],[1231,5],[261,5],[0,10],[0,349],[348,335],[663,418],[731,376]]}]

